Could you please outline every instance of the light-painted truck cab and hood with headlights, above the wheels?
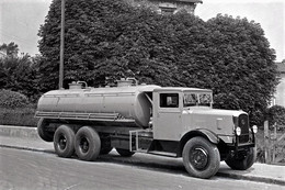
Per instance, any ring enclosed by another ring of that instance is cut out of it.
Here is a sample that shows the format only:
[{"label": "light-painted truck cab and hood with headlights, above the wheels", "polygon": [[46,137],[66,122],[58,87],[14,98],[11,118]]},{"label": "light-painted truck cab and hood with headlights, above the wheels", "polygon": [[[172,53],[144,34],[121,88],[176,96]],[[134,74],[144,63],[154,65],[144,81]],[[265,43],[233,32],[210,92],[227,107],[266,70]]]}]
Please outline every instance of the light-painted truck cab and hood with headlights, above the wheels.
[{"label": "light-painted truck cab and hood with headlights, above the wheels", "polygon": [[248,114],[241,110],[213,109],[213,92],[208,89],[155,89],[152,120],[155,139],[180,141],[187,132],[204,130],[230,144],[238,131],[239,143],[254,144]]}]

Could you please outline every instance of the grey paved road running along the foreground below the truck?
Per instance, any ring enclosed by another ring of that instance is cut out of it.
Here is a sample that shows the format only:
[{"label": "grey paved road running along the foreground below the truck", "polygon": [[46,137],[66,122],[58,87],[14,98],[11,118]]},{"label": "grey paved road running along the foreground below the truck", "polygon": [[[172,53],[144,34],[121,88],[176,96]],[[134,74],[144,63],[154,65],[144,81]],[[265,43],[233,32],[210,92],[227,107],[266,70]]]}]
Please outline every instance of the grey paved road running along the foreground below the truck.
[{"label": "grey paved road running along the foreground below the truck", "polygon": [[200,189],[281,190],[282,186],[214,177],[202,180],[185,174],[149,170],[99,159],[87,163],[59,158],[55,154],[0,148],[0,189]]}]

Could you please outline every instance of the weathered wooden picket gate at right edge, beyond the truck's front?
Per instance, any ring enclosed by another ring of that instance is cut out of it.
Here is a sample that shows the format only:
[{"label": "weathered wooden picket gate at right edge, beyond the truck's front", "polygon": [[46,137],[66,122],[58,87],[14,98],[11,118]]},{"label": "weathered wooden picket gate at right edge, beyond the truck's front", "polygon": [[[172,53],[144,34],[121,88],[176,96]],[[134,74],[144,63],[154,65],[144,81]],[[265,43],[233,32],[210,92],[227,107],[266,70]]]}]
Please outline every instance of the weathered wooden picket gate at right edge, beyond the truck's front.
[{"label": "weathered wooden picket gate at right edge, beyond the truck's front", "polygon": [[265,163],[285,165],[285,126],[264,122]]}]

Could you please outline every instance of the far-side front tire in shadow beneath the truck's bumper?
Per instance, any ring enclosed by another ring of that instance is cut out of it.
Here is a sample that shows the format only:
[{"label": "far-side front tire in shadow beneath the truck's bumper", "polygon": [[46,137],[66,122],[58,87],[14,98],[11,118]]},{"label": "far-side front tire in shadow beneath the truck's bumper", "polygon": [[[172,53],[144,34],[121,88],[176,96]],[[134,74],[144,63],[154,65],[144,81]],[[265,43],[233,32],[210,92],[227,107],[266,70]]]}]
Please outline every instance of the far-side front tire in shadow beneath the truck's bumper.
[{"label": "far-side front tire in shadow beneath the truck's bumper", "polygon": [[256,159],[256,149],[254,147],[250,147],[247,152],[247,155],[242,158],[228,157],[225,161],[226,164],[235,170],[247,170],[250,168]]}]

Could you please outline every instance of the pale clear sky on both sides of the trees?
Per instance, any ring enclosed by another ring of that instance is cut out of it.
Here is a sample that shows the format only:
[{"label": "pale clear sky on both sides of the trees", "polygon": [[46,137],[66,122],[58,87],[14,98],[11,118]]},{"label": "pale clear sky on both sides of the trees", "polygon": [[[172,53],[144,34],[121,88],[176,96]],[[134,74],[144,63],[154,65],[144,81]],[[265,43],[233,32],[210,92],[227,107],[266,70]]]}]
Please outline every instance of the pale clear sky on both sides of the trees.
[{"label": "pale clear sky on both sides of the trees", "polygon": [[[20,53],[38,53],[38,29],[44,24],[52,0],[0,0],[0,44],[14,42]],[[247,18],[260,23],[276,60],[285,59],[285,0],[203,0],[195,15],[204,21],[218,13]]]}]

